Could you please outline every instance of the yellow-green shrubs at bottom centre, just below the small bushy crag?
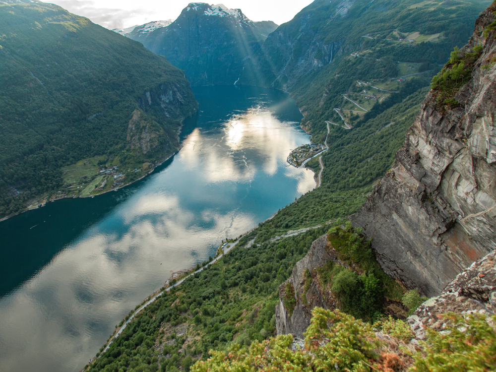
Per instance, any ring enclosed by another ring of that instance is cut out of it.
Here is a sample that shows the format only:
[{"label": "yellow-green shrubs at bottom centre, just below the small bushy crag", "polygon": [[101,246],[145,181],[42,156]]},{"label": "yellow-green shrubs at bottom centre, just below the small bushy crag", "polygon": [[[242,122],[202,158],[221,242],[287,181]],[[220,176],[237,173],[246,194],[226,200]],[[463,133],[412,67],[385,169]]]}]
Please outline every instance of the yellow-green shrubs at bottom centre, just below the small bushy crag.
[{"label": "yellow-green shrubs at bottom centre, just below the small bushy crag", "polygon": [[379,341],[372,327],[340,311],[312,310],[304,349],[292,350],[293,337],[281,335],[255,341],[249,349],[234,345],[226,353],[212,351],[193,372],[207,371],[370,371]]}]

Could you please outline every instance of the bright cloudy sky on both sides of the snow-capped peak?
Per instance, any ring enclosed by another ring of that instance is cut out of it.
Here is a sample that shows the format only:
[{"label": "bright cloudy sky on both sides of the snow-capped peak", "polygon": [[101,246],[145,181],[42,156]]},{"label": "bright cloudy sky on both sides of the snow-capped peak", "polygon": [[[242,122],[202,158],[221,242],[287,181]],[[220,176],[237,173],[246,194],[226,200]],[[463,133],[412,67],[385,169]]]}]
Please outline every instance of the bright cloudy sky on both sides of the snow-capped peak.
[{"label": "bright cloudy sky on both sides of the snow-capped peak", "polygon": [[[312,0],[221,0],[228,8],[240,8],[252,21],[290,21]],[[151,21],[175,20],[192,0],[44,0],[71,13],[89,18],[108,29],[127,28]],[[196,1],[201,2],[201,1]]]}]

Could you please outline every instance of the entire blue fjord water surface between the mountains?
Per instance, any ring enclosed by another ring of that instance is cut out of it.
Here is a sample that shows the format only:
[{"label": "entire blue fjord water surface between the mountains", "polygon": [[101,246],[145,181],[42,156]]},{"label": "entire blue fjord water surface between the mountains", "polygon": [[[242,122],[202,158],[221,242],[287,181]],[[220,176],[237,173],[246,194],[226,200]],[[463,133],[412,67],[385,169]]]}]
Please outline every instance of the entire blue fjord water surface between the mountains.
[{"label": "entire blue fjord water surface between the mountains", "polygon": [[79,371],[171,272],[214,255],[315,186],[288,166],[309,143],[286,94],[193,89],[183,148],[143,180],[0,223],[0,370]]}]

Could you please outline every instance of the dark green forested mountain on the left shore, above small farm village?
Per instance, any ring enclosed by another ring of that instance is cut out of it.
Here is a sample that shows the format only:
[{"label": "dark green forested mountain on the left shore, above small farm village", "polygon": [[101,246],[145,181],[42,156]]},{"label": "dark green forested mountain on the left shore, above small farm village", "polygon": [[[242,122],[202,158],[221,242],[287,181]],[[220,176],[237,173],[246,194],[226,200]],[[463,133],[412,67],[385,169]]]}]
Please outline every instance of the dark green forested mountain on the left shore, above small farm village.
[{"label": "dark green forested mountain on the left shore, above small farm village", "polygon": [[42,2],[0,4],[0,35],[0,217],[122,186],[179,147],[197,103],[163,57]]}]

